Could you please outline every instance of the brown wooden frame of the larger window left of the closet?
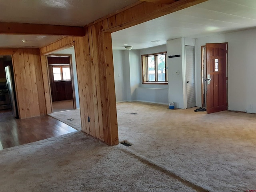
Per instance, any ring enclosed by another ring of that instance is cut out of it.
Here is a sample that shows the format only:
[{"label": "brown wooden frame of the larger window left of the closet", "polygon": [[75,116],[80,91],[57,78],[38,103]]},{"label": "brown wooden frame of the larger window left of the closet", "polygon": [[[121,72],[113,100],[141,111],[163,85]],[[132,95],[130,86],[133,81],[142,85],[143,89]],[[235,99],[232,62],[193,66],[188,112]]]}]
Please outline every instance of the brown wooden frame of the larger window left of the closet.
[{"label": "brown wooden frame of the larger window left of the closet", "polygon": [[[158,55],[165,55],[165,81],[158,81]],[[154,56],[155,59],[155,81],[148,81],[148,60],[149,56]],[[168,67],[167,67],[167,52],[158,52],[152,54],[141,55],[142,63],[142,84],[168,84]]]}]

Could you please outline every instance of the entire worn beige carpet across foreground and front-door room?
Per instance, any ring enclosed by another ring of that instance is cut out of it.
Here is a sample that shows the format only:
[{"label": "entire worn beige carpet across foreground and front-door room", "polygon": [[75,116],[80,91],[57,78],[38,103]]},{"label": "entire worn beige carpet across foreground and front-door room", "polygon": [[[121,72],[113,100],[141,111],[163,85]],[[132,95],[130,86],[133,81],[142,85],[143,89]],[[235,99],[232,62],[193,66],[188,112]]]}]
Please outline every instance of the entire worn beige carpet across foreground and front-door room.
[{"label": "entire worn beige carpet across foreground and front-door room", "polygon": [[117,104],[119,140],[133,144],[130,147],[109,147],[77,132],[2,150],[0,187],[2,191],[15,191],[20,185],[24,189],[20,191],[256,190],[256,115],[194,109]]}]

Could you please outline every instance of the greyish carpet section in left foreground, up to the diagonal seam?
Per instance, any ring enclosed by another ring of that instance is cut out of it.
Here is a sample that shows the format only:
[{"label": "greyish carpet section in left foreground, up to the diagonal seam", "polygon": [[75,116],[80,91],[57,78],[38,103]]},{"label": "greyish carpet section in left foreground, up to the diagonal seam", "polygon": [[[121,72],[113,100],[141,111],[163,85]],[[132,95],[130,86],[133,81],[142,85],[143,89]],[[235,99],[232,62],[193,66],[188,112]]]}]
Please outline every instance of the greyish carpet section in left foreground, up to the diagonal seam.
[{"label": "greyish carpet section in left foreground, up to the diagonal seam", "polygon": [[1,192],[150,192],[193,188],[82,131],[0,151]]}]

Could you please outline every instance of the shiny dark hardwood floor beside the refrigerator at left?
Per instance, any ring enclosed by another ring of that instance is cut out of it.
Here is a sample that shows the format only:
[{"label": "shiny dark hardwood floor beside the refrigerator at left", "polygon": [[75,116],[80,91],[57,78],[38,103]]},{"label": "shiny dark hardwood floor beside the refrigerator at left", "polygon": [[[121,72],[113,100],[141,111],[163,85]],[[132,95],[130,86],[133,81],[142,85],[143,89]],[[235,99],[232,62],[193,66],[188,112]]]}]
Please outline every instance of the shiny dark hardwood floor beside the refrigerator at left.
[{"label": "shiny dark hardwood floor beside the refrigerator at left", "polygon": [[50,117],[16,119],[0,110],[0,150],[75,132],[74,128]]}]

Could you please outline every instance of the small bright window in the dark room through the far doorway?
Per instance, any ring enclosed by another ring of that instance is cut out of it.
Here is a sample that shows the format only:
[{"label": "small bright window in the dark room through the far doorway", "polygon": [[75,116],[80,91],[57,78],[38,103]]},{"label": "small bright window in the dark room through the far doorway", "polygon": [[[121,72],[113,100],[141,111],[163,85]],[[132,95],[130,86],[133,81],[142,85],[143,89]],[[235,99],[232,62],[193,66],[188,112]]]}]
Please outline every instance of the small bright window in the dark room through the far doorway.
[{"label": "small bright window in the dark room through the far doorway", "polygon": [[52,67],[54,81],[68,81],[70,77],[70,66]]}]

